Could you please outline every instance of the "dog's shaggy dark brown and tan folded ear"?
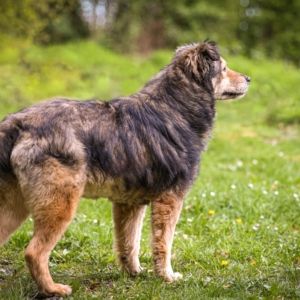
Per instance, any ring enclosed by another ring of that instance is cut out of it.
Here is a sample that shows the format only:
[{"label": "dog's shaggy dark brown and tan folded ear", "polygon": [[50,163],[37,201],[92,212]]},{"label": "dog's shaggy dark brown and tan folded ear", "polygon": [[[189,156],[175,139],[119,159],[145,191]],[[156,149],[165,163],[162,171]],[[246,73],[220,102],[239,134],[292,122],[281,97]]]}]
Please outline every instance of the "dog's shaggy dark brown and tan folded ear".
[{"label": "dog's shaggy dark brown and tan folded ear", "polygon": [[214,42],[205,41],[177,48],[175,59],[186,74],[203,80],[210,74],[213,62],[220,59],[220,54]]}]

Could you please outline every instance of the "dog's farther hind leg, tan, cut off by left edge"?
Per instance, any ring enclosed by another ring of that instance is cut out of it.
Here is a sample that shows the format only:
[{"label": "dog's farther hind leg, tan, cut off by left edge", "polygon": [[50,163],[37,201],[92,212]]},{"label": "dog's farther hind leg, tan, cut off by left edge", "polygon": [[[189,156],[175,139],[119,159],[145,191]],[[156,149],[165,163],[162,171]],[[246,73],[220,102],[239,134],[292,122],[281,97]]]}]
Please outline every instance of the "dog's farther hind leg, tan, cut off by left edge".
[{"label": "dog's farther hind leg, tan, cut off by left edge", "polygon": [[11,187],[11,190],[0,192],[0,246],[8,240],[27,216],[28,211],[24,206],[22,195],[16,191],[15,186]]}]

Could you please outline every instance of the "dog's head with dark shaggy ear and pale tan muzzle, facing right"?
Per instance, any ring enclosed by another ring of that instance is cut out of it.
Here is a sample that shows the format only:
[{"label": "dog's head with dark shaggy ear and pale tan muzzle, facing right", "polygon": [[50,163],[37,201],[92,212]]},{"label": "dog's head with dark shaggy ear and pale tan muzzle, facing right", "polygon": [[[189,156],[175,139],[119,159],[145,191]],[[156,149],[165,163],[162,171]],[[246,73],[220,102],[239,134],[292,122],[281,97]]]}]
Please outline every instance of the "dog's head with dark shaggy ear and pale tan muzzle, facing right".
[{"label": "dog's head with dark shaggy ear and pale tan muzzle, facing right", "polygon": [[229,69],[214,42],[179,47],[175,61],[190,80],[209,90],[215,99],[241,98],[248,90],[250,77]]}]

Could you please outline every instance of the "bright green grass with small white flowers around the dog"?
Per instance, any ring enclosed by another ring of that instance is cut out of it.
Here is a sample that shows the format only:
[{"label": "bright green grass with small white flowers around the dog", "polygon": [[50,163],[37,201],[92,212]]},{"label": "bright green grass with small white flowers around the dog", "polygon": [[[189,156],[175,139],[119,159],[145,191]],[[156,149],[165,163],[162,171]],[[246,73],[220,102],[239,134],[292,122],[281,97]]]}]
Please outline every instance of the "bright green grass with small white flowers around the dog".
[{"label": "bright green grass with small white flowers around the dog", "polygon": [[[118,55],[93,42],[47,48],[8,41],[0,49],[0,115],[42,98],[108,99],[141,87],[171,57]],[[173,246],[184,279],[152,272],[149,211],[143,229],[145,272],[119,272],[112,252],[111,204],[83,200],[51,256],[73,299],[300,298],[300,73],[282,62],[226,57],[252,77],[249,94],[218,103],[214,136],[189,193]],[[24,264],[28,220],[0,249],[0,299],[32,298]]]}]

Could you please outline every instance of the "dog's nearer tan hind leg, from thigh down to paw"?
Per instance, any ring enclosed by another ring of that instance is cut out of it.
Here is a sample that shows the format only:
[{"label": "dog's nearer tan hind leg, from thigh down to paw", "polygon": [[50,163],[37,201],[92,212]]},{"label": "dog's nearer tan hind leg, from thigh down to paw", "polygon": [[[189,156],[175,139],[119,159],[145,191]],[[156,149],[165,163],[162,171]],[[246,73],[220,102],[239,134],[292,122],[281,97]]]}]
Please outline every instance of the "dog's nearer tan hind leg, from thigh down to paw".
[{"label": "dog's nearer tan hind leg, from thigh down to paw", "polygon": [[[30,173],[26,173],[27,170]],[[79,166],[68,167],[49,159],[24,171],[19,169],[17,173],[34,221],[25,259],[39,290],[45,295],[66,296],[72,292],[69,286],[53,281],[48,261],[78,206],[85,181],[81,171]]]}]

